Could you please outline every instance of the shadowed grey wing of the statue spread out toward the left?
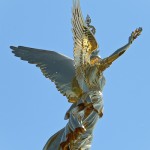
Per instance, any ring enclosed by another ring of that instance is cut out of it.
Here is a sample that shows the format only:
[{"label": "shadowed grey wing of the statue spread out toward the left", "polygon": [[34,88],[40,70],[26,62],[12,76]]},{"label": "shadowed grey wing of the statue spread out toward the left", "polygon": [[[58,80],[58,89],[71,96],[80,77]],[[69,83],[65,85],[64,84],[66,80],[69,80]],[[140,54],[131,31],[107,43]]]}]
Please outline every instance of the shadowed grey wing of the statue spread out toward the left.
[{"label": "shadowed grey wing of the statue spread out toward the left", "polygon": [[15,56],[30,64],[36,64],[46,78],[55,83],[56,88],[68,98],[77,95],[72,90],[72,80],[75,76],[74,62],[69,57],[54,51],[40,50],[28,47],[10,47]]}]

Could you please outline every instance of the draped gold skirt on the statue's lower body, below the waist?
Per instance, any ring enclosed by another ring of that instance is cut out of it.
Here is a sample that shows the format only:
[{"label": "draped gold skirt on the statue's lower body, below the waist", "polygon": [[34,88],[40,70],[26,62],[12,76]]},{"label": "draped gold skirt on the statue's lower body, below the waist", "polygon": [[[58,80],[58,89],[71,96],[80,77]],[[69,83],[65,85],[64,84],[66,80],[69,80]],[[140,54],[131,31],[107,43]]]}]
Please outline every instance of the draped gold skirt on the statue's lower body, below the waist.
[{"label": "draped gold skirt on the statue's lower body, below the waist", "polygon": [[[91,98],[91,99],[90,99]],[[94,126],[102,116],[102,96],[94,92],[82,100],[82,103],[72,104],[66,113],[68,123],[50,138],[43,150],[90,150]]]}]

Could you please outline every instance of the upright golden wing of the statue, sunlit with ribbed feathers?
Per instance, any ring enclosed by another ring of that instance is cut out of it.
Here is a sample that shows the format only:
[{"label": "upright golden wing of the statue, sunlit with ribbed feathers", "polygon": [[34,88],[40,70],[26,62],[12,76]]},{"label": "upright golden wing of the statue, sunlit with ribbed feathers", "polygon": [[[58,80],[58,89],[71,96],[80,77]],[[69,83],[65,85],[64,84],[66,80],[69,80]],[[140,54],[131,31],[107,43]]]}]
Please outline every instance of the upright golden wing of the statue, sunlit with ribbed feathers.
[{"label": "upright golden wing of the statue, sunlit with ribbed feathers", "polygon": [[84,68],[87,64],[90,64],[91,53],[98,48],[98,44],[93,33],[84,22],[79,2],[79,0],[73,1],[72,32],[74,38],[74,63],[76,78],[80,87],[83,89],[85,80]]}]

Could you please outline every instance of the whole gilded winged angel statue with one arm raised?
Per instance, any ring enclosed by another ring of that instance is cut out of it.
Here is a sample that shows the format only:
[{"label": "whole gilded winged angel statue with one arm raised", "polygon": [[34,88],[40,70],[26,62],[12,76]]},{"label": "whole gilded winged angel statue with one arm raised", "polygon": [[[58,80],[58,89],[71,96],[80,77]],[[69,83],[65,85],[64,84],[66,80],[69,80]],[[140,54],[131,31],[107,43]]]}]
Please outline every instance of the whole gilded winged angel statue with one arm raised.
[{"label": "whole gilded winged angel statue with one arm raised", "polygon": [[142,32],[142,28],[136,29],[125,46],[102,59],[98,55],[98,44],[94,36],[96,29],[90,25],[89,16],[84,21],[79,2],[73,1],[72,10],[74,59],[54,51],[23,46],[10,47],[15,56],[39,67],[44,76],[54,82],[58,91],[72,103],[65,115],[65,119],[68,119],[67,125],[47,141],[43,150],[90,149],[94,126],[103,116],[103,71]]}]

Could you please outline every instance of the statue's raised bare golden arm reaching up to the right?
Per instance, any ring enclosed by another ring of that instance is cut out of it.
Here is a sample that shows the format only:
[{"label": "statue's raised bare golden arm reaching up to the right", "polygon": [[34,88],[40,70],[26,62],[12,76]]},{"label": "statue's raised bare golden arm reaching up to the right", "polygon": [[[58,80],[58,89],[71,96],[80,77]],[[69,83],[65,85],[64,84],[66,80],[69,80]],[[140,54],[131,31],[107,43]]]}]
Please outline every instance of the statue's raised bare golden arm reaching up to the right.
[{"label": "statue's raised bare golden arm reaching up to the right", "polygon": [[113,61],[115,61],[117,58],[119,58],[132,44],[132,42],[141,34],[142,28],[136,29],[134,32],[132,32],[131,36],[129,37],[129,41],[126,45],[116,50],[113,54],[111,54],[109,57],[106,57],[102,60],[102,63],[104,64],[105,70],[109,65],[112,64]]}]

